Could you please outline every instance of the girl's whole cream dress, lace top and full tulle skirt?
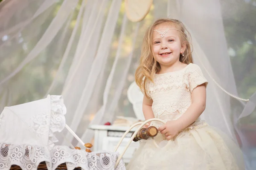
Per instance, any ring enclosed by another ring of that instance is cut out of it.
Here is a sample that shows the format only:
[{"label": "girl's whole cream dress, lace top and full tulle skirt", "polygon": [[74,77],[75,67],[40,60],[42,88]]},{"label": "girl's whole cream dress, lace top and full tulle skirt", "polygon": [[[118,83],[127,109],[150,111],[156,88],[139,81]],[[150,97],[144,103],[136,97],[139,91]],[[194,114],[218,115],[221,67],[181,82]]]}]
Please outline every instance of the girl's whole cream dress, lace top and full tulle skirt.
[{"label": "girl's whole cream dress, lace top and full tulle skirt", "polygon": [[[147,94],[154,101],[154,116],[166,122],[178,119],[191,105],[193,89],[203,83],[207,85],[201,69],[192,63],[180,71],[156,74],[154,83],[146,82]],[[151,125],[159,127],[161,123]],[[244,161],[235,142],[199,118],[174,141],[167,141],[161,133],[141,140],[126,169],[244,170]]]}]

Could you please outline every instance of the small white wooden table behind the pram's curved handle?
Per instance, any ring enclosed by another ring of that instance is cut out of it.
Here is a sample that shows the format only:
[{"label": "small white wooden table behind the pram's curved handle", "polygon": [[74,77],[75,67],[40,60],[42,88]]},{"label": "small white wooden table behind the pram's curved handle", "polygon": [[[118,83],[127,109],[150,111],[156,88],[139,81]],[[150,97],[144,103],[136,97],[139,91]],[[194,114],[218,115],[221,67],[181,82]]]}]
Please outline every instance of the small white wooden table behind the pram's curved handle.
[{"label": "small white wooden table behind the pram's curved handle", "polygon": [[[128,130],[129,127],[120,127],[112,125],[91,125],[90,129],[94,130],[94,144],[93,151],[107,150],[113,151],[120,141],[122,135]],[[125,137],[120,144],[117,152],[122,153],[129,139],[131,139],[131,133],[137,128],[134,127]],[[125,163],[128,163],[135,150],[139,147],[139,142],[132,142],[129,148],[126,150],[123,159]]]}]

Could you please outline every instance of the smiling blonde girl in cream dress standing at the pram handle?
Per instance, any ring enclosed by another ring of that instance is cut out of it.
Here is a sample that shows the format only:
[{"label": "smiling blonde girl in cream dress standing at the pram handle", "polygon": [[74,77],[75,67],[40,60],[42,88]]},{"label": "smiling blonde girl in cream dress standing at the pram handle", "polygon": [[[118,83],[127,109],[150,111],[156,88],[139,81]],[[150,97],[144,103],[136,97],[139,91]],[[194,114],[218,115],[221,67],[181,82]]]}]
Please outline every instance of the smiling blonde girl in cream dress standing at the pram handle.
[{"label": "smiling blonde girl in cream dress standing at the pram handle", "polygon": [[136,83],[145,119],[166,124],[149,124],[160,133],[141,140],[128,170],[244,170],[235,142],[201,120],[208,82],[193,64],[190,42],[179,20],[160,19],[146,31]]}]

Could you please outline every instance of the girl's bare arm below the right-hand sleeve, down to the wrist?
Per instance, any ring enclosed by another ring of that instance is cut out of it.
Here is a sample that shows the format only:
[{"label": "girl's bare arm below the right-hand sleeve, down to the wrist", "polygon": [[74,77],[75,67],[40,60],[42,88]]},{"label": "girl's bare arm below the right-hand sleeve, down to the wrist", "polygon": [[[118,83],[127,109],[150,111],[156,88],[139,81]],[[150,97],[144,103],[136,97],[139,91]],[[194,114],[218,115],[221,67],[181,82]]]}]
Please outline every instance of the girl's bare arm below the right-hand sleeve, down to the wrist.
[{"label": "girl's bare arm below the right-hand sleeve, down to the wrist", "polygon": [[191,94],[192,104],[187,111],[177,119],[177,123],[180,125],[180,130],[185,129],[192,123],[194,123],[198,117],[203,113],[206,103],[206,86],[205,83],[198,85]]}]

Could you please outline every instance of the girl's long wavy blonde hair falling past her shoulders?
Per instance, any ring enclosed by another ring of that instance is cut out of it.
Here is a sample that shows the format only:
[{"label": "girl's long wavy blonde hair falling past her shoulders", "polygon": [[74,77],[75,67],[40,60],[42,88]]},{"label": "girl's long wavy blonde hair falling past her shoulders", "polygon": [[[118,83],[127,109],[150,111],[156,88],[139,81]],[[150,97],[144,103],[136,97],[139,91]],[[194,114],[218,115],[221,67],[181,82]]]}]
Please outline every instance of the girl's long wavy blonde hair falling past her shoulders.
[{"label": "girl's long wavy blonde hair falling past her shoulders", "polygon": [[162,23],[170,23],[170,25],[175,26],[180,32],[180,40],[186,45],[184,56],[180,54],[180,62],[185,64],[193,63],[191,36],[183,23],[174,19],[156,20],[145,33],[141,49],[140,65],[135,72],[135,82],[140,87],[140,90],[145,92],[144,94],[147,98],[145,83],[147,80],[154,82],[154,75],[161,69],[160,64],[154,57],[152,37],[154,28]]}]

